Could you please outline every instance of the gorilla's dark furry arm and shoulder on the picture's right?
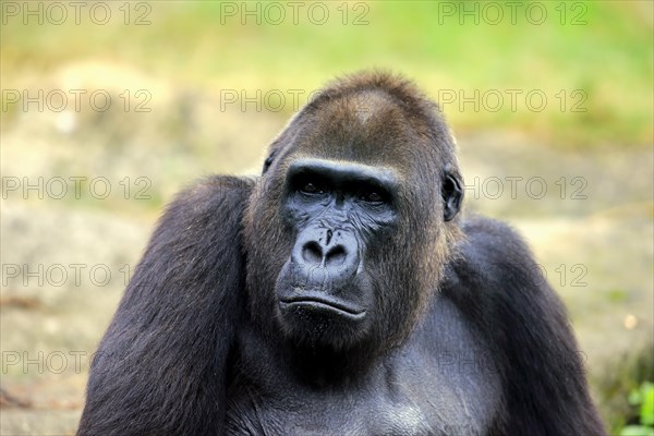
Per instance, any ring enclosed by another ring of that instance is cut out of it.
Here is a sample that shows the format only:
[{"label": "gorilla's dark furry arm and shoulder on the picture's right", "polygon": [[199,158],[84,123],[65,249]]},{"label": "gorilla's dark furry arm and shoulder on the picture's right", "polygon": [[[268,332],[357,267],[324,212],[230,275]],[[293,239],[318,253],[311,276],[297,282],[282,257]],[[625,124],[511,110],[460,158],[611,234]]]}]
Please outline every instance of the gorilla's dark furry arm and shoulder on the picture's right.
[{"label": "gorilla's dark furry arm and shoulder on the picture's right", "polygon": [[[508,227],[474,218],[444,292],[491,343],[505,392],[502,435],[605,435],[565,307]],[[499,429],[501,428],[501,429]]]}]

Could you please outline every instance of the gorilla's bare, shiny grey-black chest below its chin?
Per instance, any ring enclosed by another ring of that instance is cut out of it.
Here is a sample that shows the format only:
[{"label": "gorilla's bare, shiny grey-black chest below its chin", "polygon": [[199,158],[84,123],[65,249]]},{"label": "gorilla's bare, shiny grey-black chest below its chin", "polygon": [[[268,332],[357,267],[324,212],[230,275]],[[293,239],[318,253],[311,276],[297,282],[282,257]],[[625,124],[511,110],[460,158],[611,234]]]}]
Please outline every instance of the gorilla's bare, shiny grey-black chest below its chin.
[{"label": "gorilla's bare, shiny grey-black chest below its chin", "polygon": [[246,359],[253,363],[232,379],[227,434],[483,435],[500,383],[491,353],[459,319],[448,302],[434,307],[356,387],[311,388],[263,364],[265,356]]}]

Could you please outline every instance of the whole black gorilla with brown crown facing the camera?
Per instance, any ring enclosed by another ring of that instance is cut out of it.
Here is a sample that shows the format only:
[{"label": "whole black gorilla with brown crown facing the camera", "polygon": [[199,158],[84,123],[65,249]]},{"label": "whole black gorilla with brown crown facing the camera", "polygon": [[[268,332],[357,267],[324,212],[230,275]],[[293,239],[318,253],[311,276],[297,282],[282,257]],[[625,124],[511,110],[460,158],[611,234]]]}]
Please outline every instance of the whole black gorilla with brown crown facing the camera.
[{"label": "whole black gorilla with brown crown facing the camera", "polygon": [[565,308],[459,214],[455,140],[387,72],[320,90],[257,178],[168,206],[78,435],[605,435]]}]

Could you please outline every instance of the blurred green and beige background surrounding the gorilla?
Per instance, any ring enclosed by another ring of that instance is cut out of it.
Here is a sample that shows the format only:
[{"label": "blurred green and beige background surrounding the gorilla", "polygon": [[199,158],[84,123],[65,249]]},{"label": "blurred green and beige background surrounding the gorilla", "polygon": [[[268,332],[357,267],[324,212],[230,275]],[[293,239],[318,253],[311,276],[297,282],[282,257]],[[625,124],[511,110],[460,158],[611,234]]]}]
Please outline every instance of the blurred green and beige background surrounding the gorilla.
[{"label": "blurred green and beige background surrounding the gorilla", "polygon": [[0,8],[1,435],[73,434],[165,204],[258,172],[313,92],[371,68],[440,101],[465,208],[532,246],[611,434],[654,434],[652,2]]}]

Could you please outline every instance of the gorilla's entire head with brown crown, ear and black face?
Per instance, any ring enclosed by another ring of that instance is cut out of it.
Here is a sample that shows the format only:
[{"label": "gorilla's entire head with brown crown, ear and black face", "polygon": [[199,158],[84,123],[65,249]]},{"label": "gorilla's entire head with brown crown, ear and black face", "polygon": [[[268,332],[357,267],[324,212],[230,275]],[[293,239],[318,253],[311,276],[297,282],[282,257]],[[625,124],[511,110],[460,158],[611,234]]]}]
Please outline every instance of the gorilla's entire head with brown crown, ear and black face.
[{"label": "gorilla's entire head with brown crown, ear and black face", "polygon": [[296,346],[399,344],[460,238],[461,186],[447,125],[410,82],[331,84],[272,143],[251,196],[251,316]]}]

